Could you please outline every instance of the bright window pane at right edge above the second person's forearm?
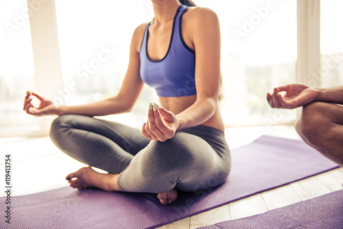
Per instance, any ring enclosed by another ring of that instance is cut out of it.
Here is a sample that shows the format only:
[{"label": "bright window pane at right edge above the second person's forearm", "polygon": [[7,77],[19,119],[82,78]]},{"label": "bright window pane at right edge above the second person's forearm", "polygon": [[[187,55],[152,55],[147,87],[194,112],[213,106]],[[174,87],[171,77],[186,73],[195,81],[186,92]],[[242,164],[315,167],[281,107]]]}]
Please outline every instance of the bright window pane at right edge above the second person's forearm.
[{"label": "bright window pane at right edge above the second person's forearm", "polygon": [[320,6],[320,53],[321,64],[318,73],[321,87],[343,85],[343,2],[324,0]]}]

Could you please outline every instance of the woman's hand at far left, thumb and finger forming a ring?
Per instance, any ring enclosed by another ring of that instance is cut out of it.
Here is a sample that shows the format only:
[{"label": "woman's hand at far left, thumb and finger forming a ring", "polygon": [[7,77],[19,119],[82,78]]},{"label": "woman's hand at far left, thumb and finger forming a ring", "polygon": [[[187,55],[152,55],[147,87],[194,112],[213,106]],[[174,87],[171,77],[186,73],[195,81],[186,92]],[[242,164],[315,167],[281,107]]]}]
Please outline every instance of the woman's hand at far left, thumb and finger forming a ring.
[{"label": "woman's hand at far left, thumb and finger forming a ring", "polygon": [[[40,104],[35,107],[32,105],[32,96],[36,97]],[[27,91],[23,110],[29,115],[42,116],[42,115],[58,115],[58,108],[52,103],[52,101],[41,97],[40,95]]]}]

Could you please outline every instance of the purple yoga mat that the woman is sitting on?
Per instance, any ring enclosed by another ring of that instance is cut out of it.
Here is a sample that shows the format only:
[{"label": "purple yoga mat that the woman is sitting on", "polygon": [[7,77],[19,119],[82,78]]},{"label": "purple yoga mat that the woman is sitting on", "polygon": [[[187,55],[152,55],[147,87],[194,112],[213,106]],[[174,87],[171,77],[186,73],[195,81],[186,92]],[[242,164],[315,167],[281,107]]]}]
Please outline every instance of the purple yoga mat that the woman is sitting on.
[{"label": "purple yoga mat that the woman is sitting on", "polygon": [[[228,180],[215,189],[179,193],[163,206],[156,194],[70,187],[12,197],[11,224],[0,228],[155,228],[338,167],[303,141],[261,136],[232,150]],[[3,212],[4,198],[0,198]]]}]

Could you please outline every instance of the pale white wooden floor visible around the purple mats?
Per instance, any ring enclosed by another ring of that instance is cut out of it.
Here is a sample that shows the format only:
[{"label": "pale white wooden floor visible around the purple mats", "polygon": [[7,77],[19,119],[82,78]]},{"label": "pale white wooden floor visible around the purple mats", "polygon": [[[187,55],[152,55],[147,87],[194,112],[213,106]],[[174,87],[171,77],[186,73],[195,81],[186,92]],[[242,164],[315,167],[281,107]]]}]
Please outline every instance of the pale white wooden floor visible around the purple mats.
[{"label": "pale white wooden floor visible around the purple mats", "polygon": [[[290,126],[229,128],[226,139],[231,148],[245,145],[262,134],[299,138]],[[12,158],[12,195],[26,195],[67,186],[64,177],[84,165],[57,149],[49,138],[0,138],[0,171],[3,173],[5,154]],[[0,176],[4,177],[4,176]],[[3,182],[1,182],[3,184]],[[342,189],[343,169],[333,169],[277,189],[252,195],[242,200],[181,219],[160,229],[198,228],[229,219],[265,213],[313,197]],[[0,196],[4,196],[0,192]]]}]

